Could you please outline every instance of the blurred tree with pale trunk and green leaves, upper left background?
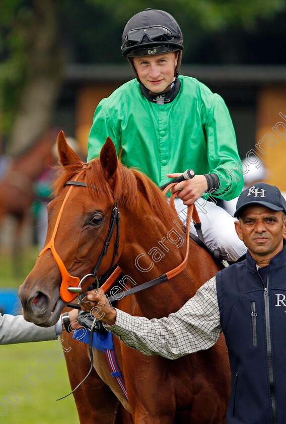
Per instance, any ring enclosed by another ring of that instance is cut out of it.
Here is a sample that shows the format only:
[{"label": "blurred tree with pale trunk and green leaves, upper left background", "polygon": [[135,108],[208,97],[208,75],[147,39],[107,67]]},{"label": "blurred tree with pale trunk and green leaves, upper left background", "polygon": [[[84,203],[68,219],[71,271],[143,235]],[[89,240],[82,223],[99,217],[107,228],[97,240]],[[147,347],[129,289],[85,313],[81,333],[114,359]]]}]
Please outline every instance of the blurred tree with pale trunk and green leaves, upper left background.
[{"label": "blurred tree with pale trunk and green leaves, upper left background", "polygon": [[62,81],[58,0],[3,2],[0,101],[7,152],[17,155],[48,127]]}]

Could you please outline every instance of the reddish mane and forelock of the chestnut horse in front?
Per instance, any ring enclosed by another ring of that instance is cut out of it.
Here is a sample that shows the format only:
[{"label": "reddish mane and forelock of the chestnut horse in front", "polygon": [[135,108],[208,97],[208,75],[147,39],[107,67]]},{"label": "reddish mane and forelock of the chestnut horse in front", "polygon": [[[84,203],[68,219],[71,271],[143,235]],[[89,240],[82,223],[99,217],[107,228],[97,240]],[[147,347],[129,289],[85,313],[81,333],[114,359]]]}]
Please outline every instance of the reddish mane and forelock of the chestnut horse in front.
[{"label": "reddish mane and forelock of the chestnut horse in front", "polygon": [[[58,167],[57,179],[52,185],[54,194],[57,195],[67,181],[73,180],[83,166],[83,163],[76,163]],[[136,207],[140,207],[139,191],[164,223],[170,227],[174,225],[173,220],[176,218],[176,214],[173,208],[166,201],[162,191],[144,173],[134,168],[127,168],[118,162],[117,170],[112,177],[112,184],[109,184],[97,158],[89,162],[83,175],[89,194],[93,198],[101,196],[112,202],[114,199],[118,199],[127,208],[134,204]],[[96,186],[96,189],[93,186]]]}]

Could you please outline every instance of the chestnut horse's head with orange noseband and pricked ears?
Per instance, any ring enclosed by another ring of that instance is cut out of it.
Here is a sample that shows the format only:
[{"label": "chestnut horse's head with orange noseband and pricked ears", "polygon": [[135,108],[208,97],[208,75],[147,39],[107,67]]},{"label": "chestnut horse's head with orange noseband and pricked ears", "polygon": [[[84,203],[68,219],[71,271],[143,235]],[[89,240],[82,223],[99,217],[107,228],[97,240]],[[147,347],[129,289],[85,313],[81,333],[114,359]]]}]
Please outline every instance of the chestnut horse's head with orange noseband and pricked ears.
[{"label": "chestnut horse's head with orange noseband and pricked ears", "polygon": [[[48,204],[45,247],[19,290],[25,319],[43,327],[57,322],[62,308],[76,296],[68,287],[77,287],[98,263],[110,233],[118,179],[116,150],[110,138],[99,159],[90,164],[82,163],[62,131],[57,146],[61,175],[54,184],[57,196]],[[75,181],[82,185],[74,185]],[[108,271],[116,242],[115,228],[98,263],[97,276]],[[83,289],[93,280],[85,279]]]}]

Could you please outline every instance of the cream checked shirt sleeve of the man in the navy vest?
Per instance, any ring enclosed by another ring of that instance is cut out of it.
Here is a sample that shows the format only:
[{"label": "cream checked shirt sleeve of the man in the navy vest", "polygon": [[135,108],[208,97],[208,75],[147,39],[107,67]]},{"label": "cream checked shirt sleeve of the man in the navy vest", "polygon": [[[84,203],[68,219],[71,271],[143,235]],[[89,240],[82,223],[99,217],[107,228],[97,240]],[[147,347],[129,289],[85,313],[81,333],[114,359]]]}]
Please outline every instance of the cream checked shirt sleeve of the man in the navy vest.
[{"label": "cream checked shirt sleeve of the man in the navy vest", "polygon": [[168,359],[210,348],[222,328],[216,277],[208,280],[182,307],[168,317],[148,320],[116,309],[116,322],[106,326],[122,342],[145,355]]}]

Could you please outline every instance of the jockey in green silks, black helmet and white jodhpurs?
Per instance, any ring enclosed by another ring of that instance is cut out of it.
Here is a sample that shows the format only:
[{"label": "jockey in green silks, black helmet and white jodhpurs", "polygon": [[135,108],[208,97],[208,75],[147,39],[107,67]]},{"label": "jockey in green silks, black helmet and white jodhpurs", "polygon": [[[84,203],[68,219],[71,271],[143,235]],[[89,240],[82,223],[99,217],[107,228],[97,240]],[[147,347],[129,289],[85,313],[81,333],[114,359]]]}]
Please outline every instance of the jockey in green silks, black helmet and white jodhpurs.
[{"label": "jockey in green silks, black helmet and white jodhpurs", "polygon": [[[167,12],[146,9],[134,15],[124,28],[121,49],[136,78],[98,104],[88,160],[99,155],[109,136],[121,162],[139,168],[158,186],[191,168],[195,176],[170,190],[180,190],[178,215],[185,222],[187,205],[195,202],[206,245],[237,260],[246,248],[235,219],[216,204],[238,196],[243,187],[224,100],[195,78],[179,76],[182,32]],[[196,233],[194,227],[191,232]]]}]

